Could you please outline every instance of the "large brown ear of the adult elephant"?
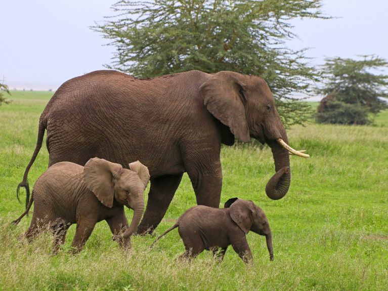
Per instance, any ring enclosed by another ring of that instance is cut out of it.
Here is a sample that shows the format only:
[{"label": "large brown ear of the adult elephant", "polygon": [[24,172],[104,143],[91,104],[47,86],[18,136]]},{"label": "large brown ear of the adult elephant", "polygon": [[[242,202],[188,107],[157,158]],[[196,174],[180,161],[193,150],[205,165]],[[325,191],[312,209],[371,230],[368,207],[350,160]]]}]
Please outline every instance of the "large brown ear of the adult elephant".
[{"label": "large brown ear of the adult elephant", "polygon": [[233,135],[243,142],[249,141],[245,106],[240,96],[243,88],[241,75],[222,71],[211,76],[199,88],[206,109],[229,127]]}]

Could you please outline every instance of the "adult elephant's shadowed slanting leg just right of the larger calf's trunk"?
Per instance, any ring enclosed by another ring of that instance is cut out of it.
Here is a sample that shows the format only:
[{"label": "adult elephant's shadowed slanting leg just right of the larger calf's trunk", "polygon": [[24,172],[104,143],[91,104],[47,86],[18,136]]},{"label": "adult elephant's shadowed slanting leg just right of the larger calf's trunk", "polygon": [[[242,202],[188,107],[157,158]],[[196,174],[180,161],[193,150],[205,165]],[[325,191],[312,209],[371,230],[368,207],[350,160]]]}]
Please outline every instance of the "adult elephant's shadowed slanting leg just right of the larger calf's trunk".
[{"label": "adult elephant's shadowed slanting leg just right of the larger calf's trunk", "polygon": [[151,234],[158,226],[167,211],[168,205],[173,200],[182,176],[183,173],[180,173],[151,179],[147,207],[143,220],[138,227],[138,234]]}]

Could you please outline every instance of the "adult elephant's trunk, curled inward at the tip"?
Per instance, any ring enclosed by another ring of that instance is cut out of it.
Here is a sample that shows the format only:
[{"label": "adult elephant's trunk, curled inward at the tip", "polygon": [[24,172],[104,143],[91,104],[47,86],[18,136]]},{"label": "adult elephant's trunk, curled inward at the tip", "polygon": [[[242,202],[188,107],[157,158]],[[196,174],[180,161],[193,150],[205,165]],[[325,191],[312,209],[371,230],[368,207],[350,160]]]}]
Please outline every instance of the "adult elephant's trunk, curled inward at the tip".
[{"label": "adult elephant's trunk, curled inward at the tip", "polygon": [[[287,138],[285,137],[287,142]],[[273,200],[283,198],[291,183],[289,153],[276,141],[268,142],[275,162],[275,175],[268,181],[266,194]]]}]

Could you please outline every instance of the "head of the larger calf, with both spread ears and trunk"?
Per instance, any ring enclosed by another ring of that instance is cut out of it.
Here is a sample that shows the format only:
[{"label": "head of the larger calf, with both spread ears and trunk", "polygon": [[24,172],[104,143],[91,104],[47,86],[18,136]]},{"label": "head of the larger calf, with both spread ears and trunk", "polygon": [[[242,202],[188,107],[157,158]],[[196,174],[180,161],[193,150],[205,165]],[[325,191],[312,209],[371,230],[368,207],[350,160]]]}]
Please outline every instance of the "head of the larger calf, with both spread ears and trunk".
[{"label": "head of the larger calf, with both spread ears and trunk", "polygon": [[105,159],[91,158],[83,168],[83,180],[89,190],[107,207],[113,200],[134,210],[130,227],[123,237],[131,236],[137,229],[144,212],[143,192],[150,174],[140,161],[130,163],[130,170],[122,169],[118,163]]}]

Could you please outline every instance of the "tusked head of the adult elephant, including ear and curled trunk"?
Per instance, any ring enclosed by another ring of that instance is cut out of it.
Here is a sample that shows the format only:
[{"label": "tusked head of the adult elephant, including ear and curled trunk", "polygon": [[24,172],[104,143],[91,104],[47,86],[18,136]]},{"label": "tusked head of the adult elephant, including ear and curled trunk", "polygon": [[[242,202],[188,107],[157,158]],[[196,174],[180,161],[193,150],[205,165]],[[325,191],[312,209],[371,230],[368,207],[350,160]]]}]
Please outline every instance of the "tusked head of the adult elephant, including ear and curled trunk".
[{"label": "tusked head of the adult elephant, including ear and curled trunk", "polygon": [[287,145],[287,133],[266,81],[257,76],[222,71],[202,84],[200,95],[206,109],[229,127],[230,144],[234,142],[233,136],[243,142],[252,137],[271,147],[276,174],[267,183],[266,193],[274,200],[282,198],[291,182],[289,153],[309,155]]}]

